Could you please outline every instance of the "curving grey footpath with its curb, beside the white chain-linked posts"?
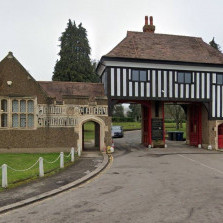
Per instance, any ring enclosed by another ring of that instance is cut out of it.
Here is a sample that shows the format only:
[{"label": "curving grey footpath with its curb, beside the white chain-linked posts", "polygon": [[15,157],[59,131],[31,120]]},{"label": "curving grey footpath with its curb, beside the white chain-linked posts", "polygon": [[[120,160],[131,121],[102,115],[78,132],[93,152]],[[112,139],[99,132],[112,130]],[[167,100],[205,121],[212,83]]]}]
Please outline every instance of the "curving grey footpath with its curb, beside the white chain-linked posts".
[{"label": "curving grey footpath with its curb, beside the white chain-linked posts", "polygon": [[0,192],[0,213],[43,200],[76,187],[98,175],[109,163],[100,152],[83,152],[71,166],[52,176]]}]

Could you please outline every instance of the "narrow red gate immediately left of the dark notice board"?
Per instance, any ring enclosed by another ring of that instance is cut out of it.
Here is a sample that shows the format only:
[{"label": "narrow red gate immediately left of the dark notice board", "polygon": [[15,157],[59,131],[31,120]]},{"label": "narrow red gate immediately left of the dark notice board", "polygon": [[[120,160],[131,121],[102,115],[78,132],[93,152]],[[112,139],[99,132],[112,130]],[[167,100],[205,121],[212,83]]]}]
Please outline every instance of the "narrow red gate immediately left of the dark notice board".
[{"label": "narrow red gate immediately left of the dark notice board", "polygon": [[145,146],[151,145],[151,104],[142,105],[142,143]]}]

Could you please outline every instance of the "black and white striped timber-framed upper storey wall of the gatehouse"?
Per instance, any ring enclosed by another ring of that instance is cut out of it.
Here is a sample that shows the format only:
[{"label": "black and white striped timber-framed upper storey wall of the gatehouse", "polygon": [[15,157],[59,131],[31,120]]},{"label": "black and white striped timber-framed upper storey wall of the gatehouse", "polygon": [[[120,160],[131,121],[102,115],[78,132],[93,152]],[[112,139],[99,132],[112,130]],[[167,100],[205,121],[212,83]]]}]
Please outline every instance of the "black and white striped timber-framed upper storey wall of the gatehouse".
[{"label": "black and white striped timber-framed upper storey wall of the gatehouse", "polygon": [[[136,69],[146,72],[144,81],[132,80],[132,70]],[[191,82],[179,83],[178,72],[191,73]],[[102,57],[98,73],[109,100],[203,102],[209,119],[223,119],[223,85],[217,84],[223,65],[162,64]]]}]

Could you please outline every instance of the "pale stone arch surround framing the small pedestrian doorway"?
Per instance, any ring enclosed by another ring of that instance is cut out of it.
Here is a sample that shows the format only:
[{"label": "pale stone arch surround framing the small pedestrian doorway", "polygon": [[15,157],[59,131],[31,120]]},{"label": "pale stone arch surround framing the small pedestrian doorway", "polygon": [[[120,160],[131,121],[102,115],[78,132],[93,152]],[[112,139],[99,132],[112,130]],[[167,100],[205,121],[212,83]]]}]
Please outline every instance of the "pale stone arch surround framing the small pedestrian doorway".
[{"label": "pale stone arch surround framing the small pedestrian doorway", "polygon": [[82,126],[84,125],[84,123],[86,122],[95,122],[97,124],[99,124],[100,126],[100,150],[104,151],[105,149],[105,131],[108,131],[108,127],[106,127],[105,122],[99,118],[99,117],[95,117],[95,116],[87,116],[87,117],[81,117],[79,119],[78,125],[75,128],[75,131],[78,133],[78,141],[77,141],[77,145],[79,145],[82,148],[82,140],[83,140],[83,135],[82,135]]}]

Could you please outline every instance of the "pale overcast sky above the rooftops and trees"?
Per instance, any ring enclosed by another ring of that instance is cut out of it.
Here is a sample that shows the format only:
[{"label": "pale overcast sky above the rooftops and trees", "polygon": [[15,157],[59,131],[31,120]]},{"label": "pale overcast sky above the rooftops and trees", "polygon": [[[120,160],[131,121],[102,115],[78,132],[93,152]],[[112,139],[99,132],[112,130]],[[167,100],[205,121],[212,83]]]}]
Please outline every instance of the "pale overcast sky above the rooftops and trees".
[{"label": "pale overcast sky above the rooftops and trees", "polygon": [[0,60],[9,51],[36,80],[51,80],[68,19],[87,29],[100,59],[153,16],[156,33],[215,37],[223,48],[222,0],[0,0]]}]

